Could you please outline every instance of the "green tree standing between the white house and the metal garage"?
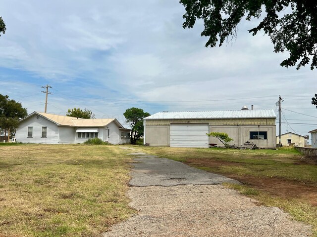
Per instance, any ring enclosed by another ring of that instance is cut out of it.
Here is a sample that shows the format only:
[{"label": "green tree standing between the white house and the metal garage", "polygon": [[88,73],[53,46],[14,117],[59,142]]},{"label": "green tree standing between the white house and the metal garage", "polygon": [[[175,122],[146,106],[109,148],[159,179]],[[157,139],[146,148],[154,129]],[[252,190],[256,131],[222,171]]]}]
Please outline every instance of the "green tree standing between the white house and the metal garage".
[{"label": "green tree standing between the white house and the metal garage", "polygon": [[149,113],[144,112],[139,108],[130,108],[123,113],[126,122],[130,123],[131,144],[136,144],[136,141],[144,135],[143,118],[150,116]]}]

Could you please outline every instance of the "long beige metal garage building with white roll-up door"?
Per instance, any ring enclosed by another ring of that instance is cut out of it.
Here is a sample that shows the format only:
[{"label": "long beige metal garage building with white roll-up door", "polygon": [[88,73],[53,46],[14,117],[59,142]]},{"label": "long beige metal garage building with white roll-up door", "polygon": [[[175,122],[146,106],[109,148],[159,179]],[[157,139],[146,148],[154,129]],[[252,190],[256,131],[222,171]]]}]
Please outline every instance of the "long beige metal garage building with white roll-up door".
[{"label": "long beige metal garage building with white roll-up door", "polygon": [[222,145],[209,132],[225,132],[241,146],[246,141],[258,147],[275,148],[276,115],[273,110],[160,112],[144,118],[144,143],[164,147],[209,147]]}]

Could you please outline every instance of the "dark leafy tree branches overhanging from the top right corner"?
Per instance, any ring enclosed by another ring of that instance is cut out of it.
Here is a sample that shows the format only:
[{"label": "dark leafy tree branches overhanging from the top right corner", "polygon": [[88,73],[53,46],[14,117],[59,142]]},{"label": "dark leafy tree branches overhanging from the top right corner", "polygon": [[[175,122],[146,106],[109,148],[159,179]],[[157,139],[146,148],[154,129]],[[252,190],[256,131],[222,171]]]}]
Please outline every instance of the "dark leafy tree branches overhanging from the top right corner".
[{"label": "dark leafy tree branches overhanging from the top right corner", "polygon": [[[274,52],[289,51],[280,66],[317,67],[317,1],[314,0],[180,0],[185,6],[183,28],[192,28],[203,19],[201,36],[209,37],[206,47],[221,46],[228,37],[236,37],[243,17],[264,19],[249,30],[255,36],[263,30],[274,44]],[[265,11],[265,13],[264,13]],[[288,12],[287,14],[285,12]]]}]

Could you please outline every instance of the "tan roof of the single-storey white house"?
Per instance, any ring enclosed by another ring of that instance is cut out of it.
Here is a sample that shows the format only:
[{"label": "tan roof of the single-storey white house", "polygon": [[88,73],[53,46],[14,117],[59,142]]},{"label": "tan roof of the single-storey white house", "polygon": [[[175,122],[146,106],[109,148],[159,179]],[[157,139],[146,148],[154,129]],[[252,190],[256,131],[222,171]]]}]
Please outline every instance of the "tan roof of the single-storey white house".
[{"label": "tan roof of the single-storey white house", "polygon": [[[40,115],[44,118],[47,118],[48,120],[56,123],[57,125],[63,125],[63,126],[74,126],[74,127],[103,127],[114,121],[117,123],[119,128],[124,128],[121,123],[116,118],[75,118],[70,116],[63,116],[63,115],[53,115],[53,114],[47,114],[42,112],[33,112],[30,115],[28,115],[25,118],[22,118],[21,120],[24,120],[26,118],[30,118],[33,115]],[[124,128],[126,129],[126,128]]]}]

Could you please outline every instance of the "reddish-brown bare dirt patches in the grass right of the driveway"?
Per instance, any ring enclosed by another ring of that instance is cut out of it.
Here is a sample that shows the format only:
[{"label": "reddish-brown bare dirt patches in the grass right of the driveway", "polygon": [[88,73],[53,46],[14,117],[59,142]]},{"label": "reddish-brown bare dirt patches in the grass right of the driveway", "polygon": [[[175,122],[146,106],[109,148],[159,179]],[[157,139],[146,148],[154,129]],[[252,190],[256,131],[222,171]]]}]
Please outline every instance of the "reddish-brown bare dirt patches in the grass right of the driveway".
[{"label": "reddish-brown bare dirt patches in the grass right of the driveway", "polygon": [[[300,164],[311,163],[312,160],[300,160],[297,162]],[[237,162],[226,162],[221,160],[211,159],[188,159],[187,164],[199,165],[201,167],[217,167],[221,165],[242,165]],[[314,183],[286,180],[283,178],[270,178],[270,177],[257,177],[252,175],[238,175],[232,173],[220,173],[228,178],[232,178],[240,181],[243,184],[247,184],[253,188],[265,191],[276,197],[282,198],[302,198],[306,199],[312,205],[317,206],[317,186]]]}]

